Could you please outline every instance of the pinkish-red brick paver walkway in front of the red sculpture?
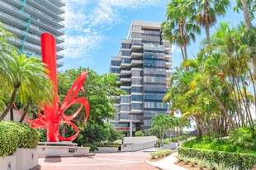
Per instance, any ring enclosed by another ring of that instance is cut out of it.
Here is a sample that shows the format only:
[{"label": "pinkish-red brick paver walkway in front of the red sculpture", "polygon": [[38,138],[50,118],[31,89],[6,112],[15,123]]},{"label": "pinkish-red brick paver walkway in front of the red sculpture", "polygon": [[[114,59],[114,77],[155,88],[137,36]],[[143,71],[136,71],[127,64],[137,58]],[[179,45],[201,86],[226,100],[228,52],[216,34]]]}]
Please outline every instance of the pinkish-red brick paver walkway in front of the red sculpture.
[{"label": "pinkish-red brick paver walkway in front of the red sculpture", "polygon": [[144,160],[149,153],[96,153],[92,157],[39,158],[41,170],[156,170]]}]

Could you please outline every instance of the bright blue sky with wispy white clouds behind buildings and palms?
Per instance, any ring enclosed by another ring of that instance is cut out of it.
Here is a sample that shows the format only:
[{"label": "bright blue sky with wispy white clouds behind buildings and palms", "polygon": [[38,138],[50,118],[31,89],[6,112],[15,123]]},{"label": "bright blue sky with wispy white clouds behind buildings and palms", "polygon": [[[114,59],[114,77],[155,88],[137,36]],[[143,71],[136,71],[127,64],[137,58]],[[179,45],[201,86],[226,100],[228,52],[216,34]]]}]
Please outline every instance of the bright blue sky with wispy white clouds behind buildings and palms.
[{"label": "bright blue sky with wispy white clouds behind buildings and palms", "polygon": [[[236,26],[244,21],[243,13],[233,12],[235,0],[225,17],[218,21],[230,21]],[[121,39],[126,39],[132,20],[165,21],[168,0],[66,0],[65,58],[63,71],[69,68],[89,67],[97,73],[107,73],[111,56],[118,53]],[[217,25],[216,25],[217,27]],[[215,31],[213,26],[211,32]],[[201,31],[196,43],[187,54],[197,54],[200,41],[206,36]],[[173,45],[173,67],[182,61],[181,52]]]}]

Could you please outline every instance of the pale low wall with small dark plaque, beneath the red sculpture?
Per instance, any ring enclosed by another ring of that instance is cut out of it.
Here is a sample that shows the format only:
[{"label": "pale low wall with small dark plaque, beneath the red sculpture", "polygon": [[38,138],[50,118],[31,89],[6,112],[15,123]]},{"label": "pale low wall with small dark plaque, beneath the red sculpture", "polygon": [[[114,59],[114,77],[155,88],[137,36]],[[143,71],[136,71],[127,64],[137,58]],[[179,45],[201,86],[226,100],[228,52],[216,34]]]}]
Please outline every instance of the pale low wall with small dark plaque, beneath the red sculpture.
[{"label": "pale low wall with small dark plaque, beneath the red sculpture", "polygon": [[72,147],[72,146],[37,146],[40,156],[60,156],[60,155],[84,155],[89,153],[88,147]]}]

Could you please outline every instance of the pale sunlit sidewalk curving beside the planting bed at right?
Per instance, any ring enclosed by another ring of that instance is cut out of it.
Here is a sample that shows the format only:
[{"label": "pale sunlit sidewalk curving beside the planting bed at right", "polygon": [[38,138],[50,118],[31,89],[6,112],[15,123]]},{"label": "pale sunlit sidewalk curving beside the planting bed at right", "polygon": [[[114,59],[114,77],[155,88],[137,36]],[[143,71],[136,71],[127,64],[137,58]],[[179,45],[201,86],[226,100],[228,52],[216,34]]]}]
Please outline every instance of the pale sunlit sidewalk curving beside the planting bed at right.
[{"label": "pale sunlit sidewalk curving beside the planting bed at right", "polygon": [[177,155],[178,155],[178,153],[173,153],[170,156],[168,156],[167,158],[163,158],[162,160],[159,160],[158,162],[154,162],[154,163],[151,163],[147,160],[145,162],[155,168],[159,168],[159,169],[163,169],[163,170],[187,170],[187,168],[182,168],[182,167],[179,167],[178,165],[174,164],[178,160],[175,157]]}]

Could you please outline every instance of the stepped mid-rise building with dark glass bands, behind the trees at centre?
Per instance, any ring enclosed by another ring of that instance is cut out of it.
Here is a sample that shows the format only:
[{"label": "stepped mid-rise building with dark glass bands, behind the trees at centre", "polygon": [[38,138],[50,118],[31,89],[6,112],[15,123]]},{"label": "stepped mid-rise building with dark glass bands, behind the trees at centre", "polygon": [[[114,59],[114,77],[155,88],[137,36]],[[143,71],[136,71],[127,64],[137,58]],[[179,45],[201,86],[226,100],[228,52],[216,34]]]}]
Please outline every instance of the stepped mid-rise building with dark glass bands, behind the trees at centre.
[{"label": "stepped mid-rise building with dark glass bands, behind the trees at centre", "polygon": [[116,116],[110,122],[127,136],[144,130],[149,135],[152,118],[168,113],[163,103],[171,75],[171,45],[164,41],[160,22],[132,21],[126,40],[121,40],[119,54],[111,58],[110,73],[120,78],[127,92],[115,103]]}]

